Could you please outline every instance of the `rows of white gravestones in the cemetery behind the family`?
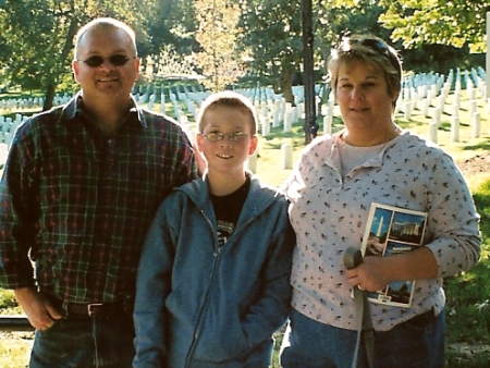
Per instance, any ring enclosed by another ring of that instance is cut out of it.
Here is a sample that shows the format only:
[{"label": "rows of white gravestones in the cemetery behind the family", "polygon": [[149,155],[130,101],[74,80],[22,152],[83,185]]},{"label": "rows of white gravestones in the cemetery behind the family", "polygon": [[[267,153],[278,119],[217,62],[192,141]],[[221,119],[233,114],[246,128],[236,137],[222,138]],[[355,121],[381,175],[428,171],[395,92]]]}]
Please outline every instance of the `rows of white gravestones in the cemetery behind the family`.
[{"label": "rows of white gravestones in the cemetery behind the family", "polygon": [[[469,76],[470,75],[470,76]],[[444,111],[445,106],[445,99],[449,95],[449,91],[451,90],[451,84],[455,82],[455,93],[454,93],[454,102],[453,102],[453,115],[457,114],[461,108],[461,100],[460,100],[460,90],[461,90],[461,78],[463,76],[456,72],[456,76],[450,72],[450,75],[448,76],[448,81],[444,82],[443,76],[439,75],[416,75],[412,81],[407,81],[405,83],[404,93],[399,100],[397,110],[404,111],[405,114],[411,114],[412,111],[419,109],[421,113],[425,115],[428,115],[428,107],[433,106],[434,111],[434,121],[436,124],[430,124],[430,138],[434,142],[437,142],[437,128],[440,124],[440,115]],[[468,96],[471,98],[474,94],[477,94],[477,90],[479,94],[482,94],[485,88],[485,72],[481,71],[471,71],[471,73],[465,73],[464,74],[464,84],[468,88]],[[475,82],[474,82],[475,81]],[[478,86],[478,89],[475,88],[475,86]],[[157,88],[152,88],[154,93],[149,94],[150,87],[148,86],[146,88],[146,91],[140,96],[138,93],[135,95],[135,98],[139,101],[139,103],[147,103],[148,109],[152,110],[154,103],[157,100],[157,95],[155,90]],[[320,86],[316,86],[316,91],[318,94],[320,89]],[[295,87],[293,89],[294,91],[294,98],[297,102],[297,106],[293,108],[292,105],[285,103],[285,100],[280,95],[275,95],[271,88],[262,87],[262,88],[250,88],[250,89],[244,89],[244,90],[237,90],[245,96],[249,97],[256,107],[259,123],[260,123],[260,133],[262,136],[268,136],[270,134],[270,127],[277,127],[280,125],[280,123],[283,123],[284,132],[290,132],[292,124],[296,123],[299,118],[303,115],[304,110],[304,88],[302,86]],[[188,123],[187,115],[182,111],[181,105],[184,105],[185,109],[187,110],[187,113],[189,113],[193,116],[196,116],[198,112],[198,106],[200,102],[209,96],[209,91],[203,91],[203,90],[195,90],[192,88],[192,90],[188,90],[186,86],[183,86],[183,91],[177,86],[175,87],[175,93],[170,90],[169,88],[169,98],[173,103],[173,109],[175,112],[175,118],[177,121],[180,121],[183,125],[191,125]],[[69,98],[68,96],[64,96],[64,98]],[[436,106],[436,102],[440,102],[440,108]],[[63,102],[60,100],[60,103]],[[166,94],[163,91],[163,88],[161,88],[160,94],[160,102],[161,102],[161,112],[164,112],[164,106],[166,106]],[[318,102],[318,97],[317,97]],[[457,103],[456,103],[457,102]],[[317,103],[318,106],[318,103]],[[490,100],[487,103],[488,108],[490,109]],[[427,109],[426,109],[427,107]],[[475,107],[475,108],[474,108]],[[408,110],[408,108],[411,110]],[[470,103],[469,109],[477,109],[476,103]],[[332,116],[334,111],[334,99],[333,96],[330,95],[330,99],[328,103],[323,105],[321,109],[321,114],[323,114],[323,133],[331,133],[331,123],[332,123]],[[409,111],[409,112],[408,112]],[[415,112],[415,111],[414,111]],[[320,113],[320,111],[319,111]],[[439,116],[439,123],[438,118]],[[409,116],[408,116],[409,119]],[[19,120],[19,118],[16,119]],[[473,135],[475,137],[479,136],[479,115],[478,112],[475,111],[475,118],[474,118],[474,133]],[[5,120],[3,120],[4,122]],[[10,126],[12,124],[11,121],[7,124]],[[0,126],[2,126],[0,124]],[[455,116],[453,116],[452,120],[452,126],[454,130],[452,132],[452,139],[458,138],[458,122],[455,120]],[[5,132],[2,128],[3,132]],[[11,132],[12,131],[12,132]],[[11,138],[11,134],[13,133],[12,128],[7,128],[5,134],[5,142]],[[282,167],[287,169],[291,165],[291,160],[289,158],[289,151],[290,149],[285,147],[283,149],[283,160],[282,160]],[[253,160],[253,158],[252,158]]]}]

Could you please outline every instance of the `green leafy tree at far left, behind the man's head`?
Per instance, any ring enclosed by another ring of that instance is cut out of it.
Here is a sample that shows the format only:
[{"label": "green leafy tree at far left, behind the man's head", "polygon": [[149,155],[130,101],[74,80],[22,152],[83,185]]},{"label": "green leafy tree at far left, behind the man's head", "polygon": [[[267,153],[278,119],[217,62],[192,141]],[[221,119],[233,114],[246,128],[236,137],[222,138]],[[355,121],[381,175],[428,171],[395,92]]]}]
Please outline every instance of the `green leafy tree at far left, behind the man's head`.
[{"label": "green leafy tree at far left, behind the man's head", "polygon": [[52,107],[57,87],[71,76],[73,38],[78,27],[97,16],[114,16],[132,24],[146,40],[142,26],[150,3],[109,0],[7,0],[0,9],[0,33],[9,54],[0,53],[13,84],[45,90],[44,110]]}]

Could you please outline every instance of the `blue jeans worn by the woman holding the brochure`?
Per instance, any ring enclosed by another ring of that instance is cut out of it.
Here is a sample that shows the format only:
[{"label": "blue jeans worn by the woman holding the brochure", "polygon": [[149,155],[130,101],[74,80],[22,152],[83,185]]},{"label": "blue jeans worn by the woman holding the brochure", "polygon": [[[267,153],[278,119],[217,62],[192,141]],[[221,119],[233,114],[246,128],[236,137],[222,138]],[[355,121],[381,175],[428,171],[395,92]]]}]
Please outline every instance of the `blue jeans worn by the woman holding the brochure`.
[{"label": "blue jeans worn by the woman holding the brochure", "polygon": [[[408,320],[390,331],[375,333],[376,368],[443,367],[444,312],[437,317],[425,317],[427,318]],[[351,368],[356,339],[356,331],[314,321],[293,309],[289,331],[284,335],[281,366]],[[362,348],[357,367],[368,367],[366,354]]]}]

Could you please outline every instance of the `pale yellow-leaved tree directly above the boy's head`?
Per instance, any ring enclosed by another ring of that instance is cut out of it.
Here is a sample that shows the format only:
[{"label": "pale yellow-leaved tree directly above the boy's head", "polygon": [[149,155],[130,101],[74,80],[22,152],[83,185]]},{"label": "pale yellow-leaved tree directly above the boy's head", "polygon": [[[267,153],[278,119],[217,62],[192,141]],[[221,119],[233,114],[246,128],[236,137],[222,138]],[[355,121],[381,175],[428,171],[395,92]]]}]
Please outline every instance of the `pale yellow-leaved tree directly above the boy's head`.
[{"label": "pale yellow-leaved tree directly above the boy's head", "polygon": [[240,8],[233,1],[195,0],[196,40],[201,51],[195,54],[196,64],[207,77],[203,83],[211,90],[224,89],[243,75],[236,49]]}]

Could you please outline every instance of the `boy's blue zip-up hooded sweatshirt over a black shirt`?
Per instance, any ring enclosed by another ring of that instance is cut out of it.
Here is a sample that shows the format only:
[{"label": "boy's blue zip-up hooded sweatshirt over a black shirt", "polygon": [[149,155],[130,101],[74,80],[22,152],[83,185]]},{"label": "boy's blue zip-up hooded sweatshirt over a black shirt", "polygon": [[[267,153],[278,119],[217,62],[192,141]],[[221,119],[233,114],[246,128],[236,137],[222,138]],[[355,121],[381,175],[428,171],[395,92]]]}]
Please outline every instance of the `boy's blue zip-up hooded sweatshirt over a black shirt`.
[{"label": "boy's blue zip-up hooded sweatshirt over a black shirt", "polygon": [[294,245],[286,200],[256,177],[221,247],[206,176],[176,188],[139,263],[134,367],[268,367],[290,311]]}]

